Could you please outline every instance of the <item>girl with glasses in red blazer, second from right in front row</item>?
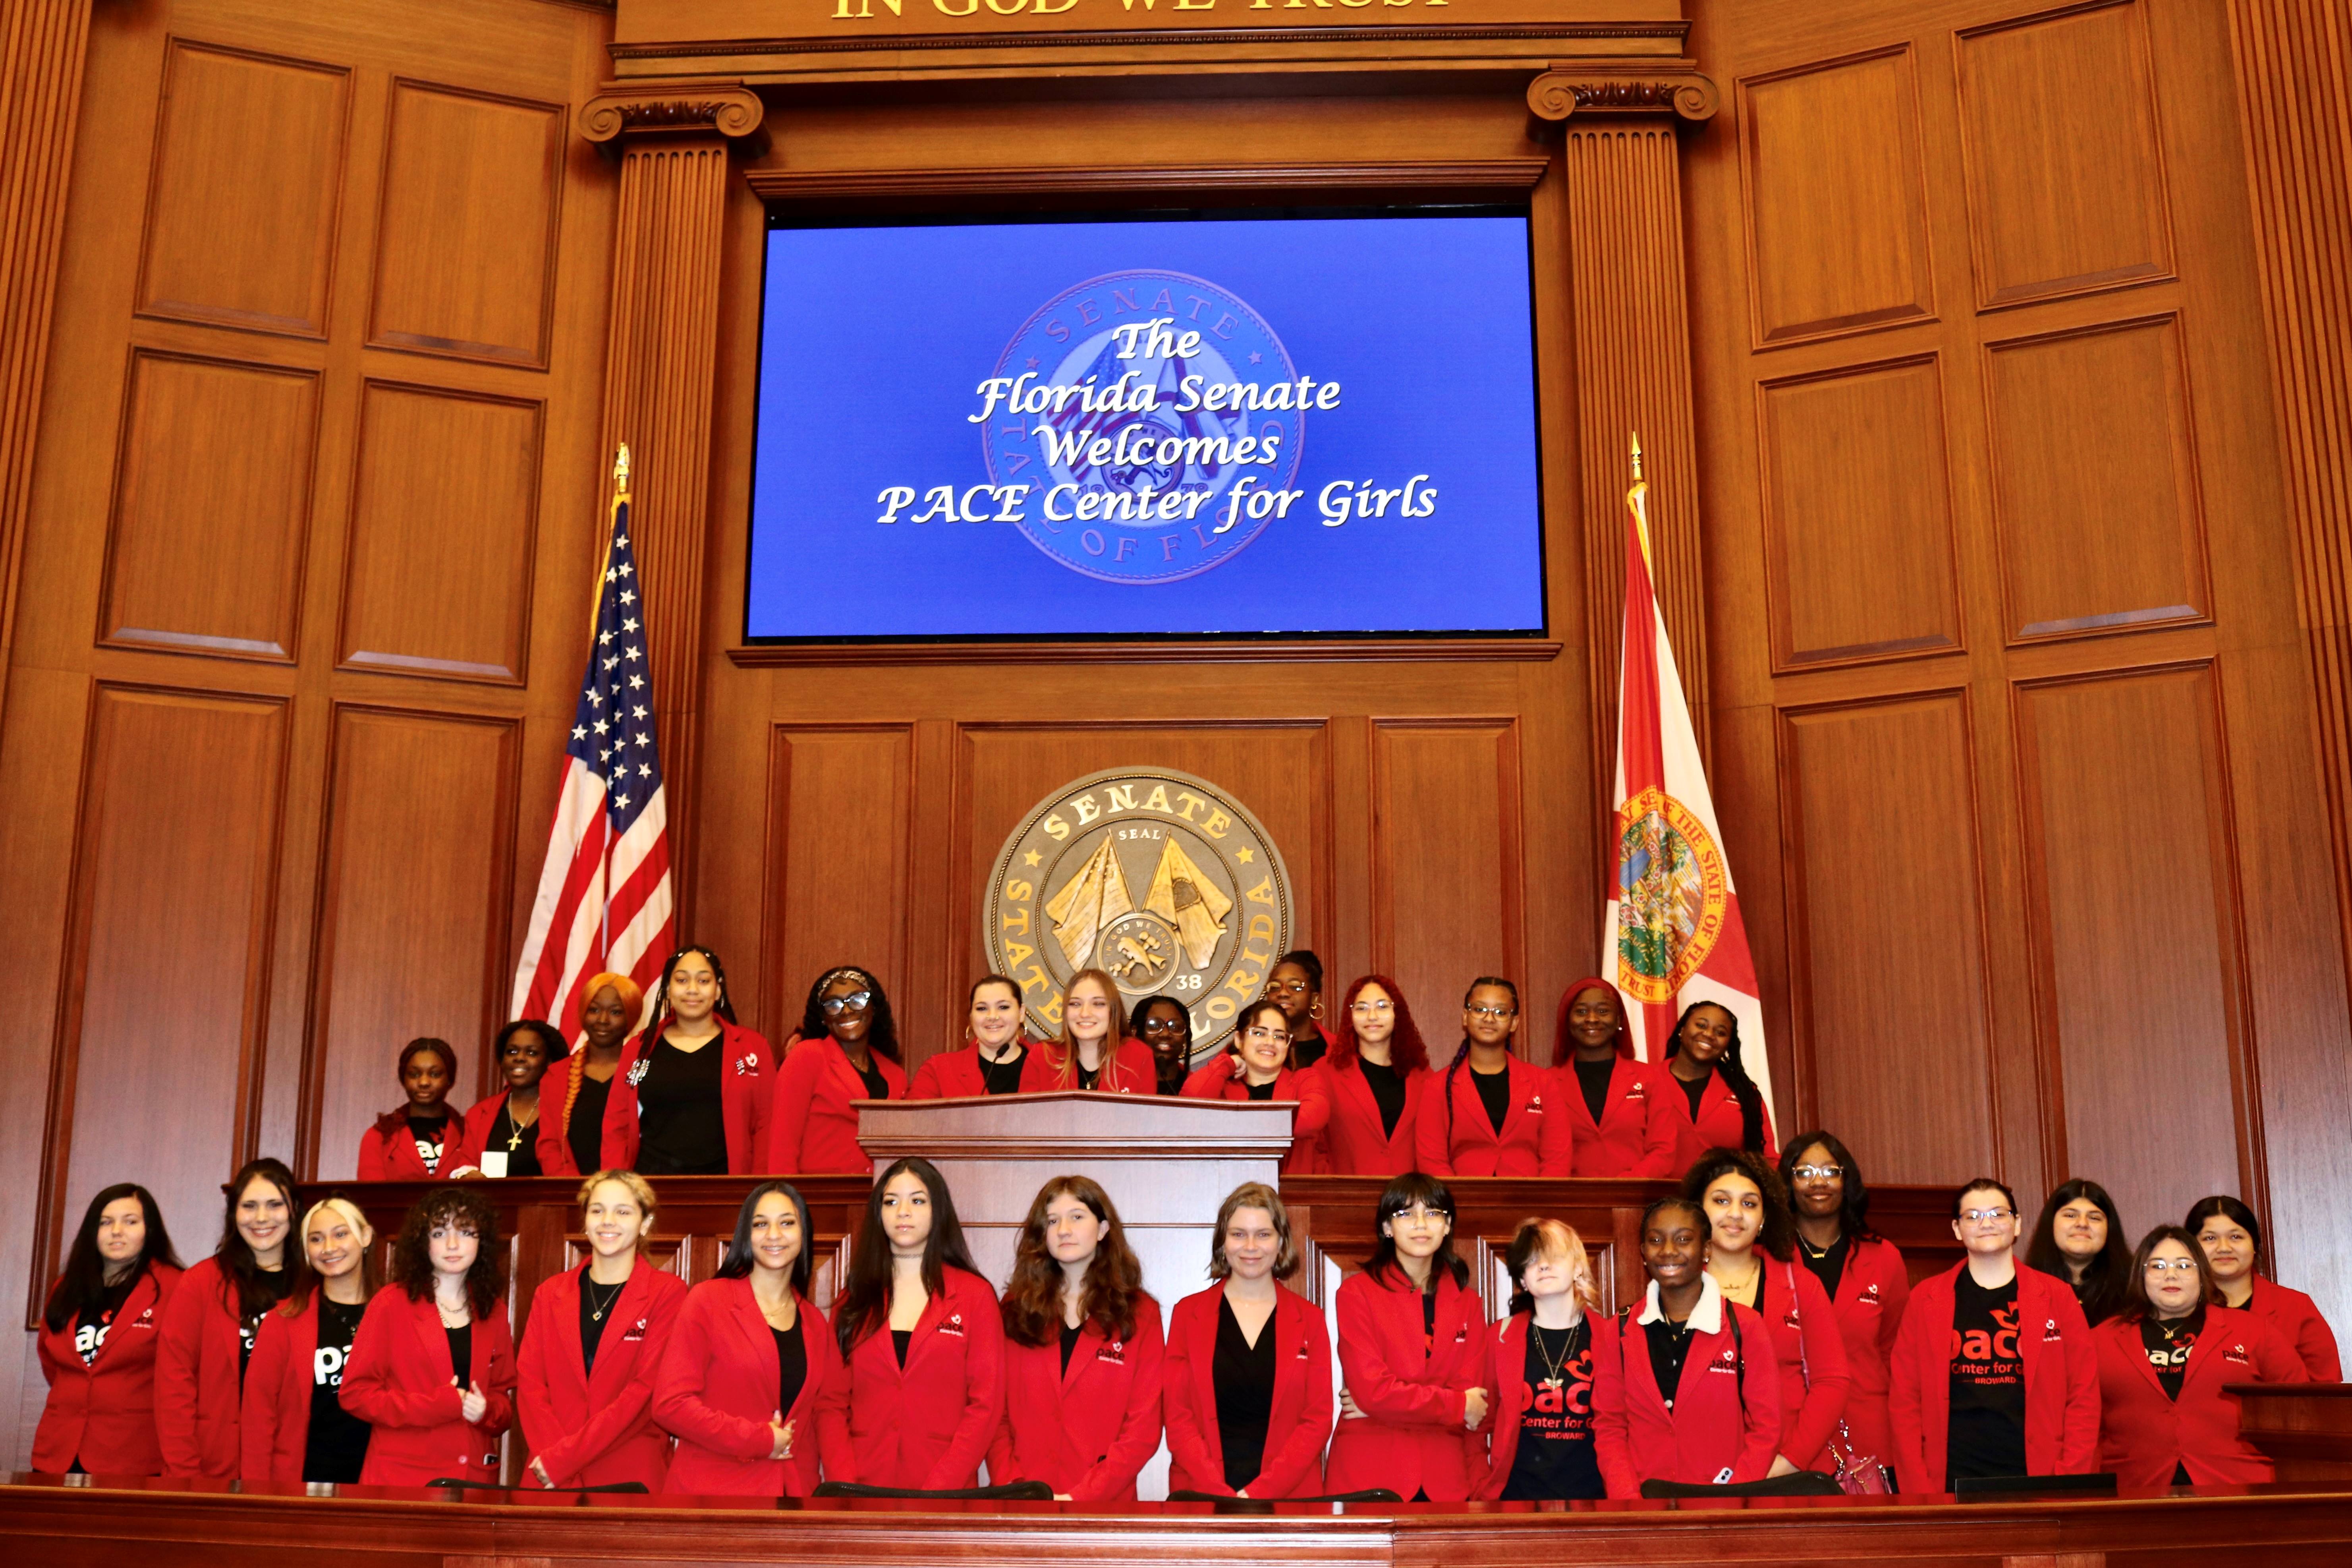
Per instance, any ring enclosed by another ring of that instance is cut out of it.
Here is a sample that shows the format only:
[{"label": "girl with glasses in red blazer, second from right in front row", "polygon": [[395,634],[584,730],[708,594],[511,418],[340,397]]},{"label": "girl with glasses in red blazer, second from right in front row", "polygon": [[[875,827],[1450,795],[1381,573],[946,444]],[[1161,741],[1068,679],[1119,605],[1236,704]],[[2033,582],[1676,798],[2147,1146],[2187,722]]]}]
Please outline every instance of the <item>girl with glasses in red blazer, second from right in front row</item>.
[{"label": "girl with glasses in red blazer, second from right in front row", "polygon": [[2263,1319],[2223,1307],[2204,1253],[2159,1225],[2131,1260],[2138,1288],[2091,1331],[2098,1342],[2098,1462],[2119,1486],[2253,1486],[2277,1479],[2237,1434],[2230,1382],[2310,1382]]}]

